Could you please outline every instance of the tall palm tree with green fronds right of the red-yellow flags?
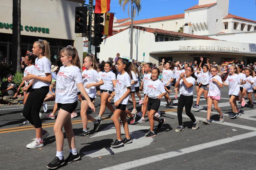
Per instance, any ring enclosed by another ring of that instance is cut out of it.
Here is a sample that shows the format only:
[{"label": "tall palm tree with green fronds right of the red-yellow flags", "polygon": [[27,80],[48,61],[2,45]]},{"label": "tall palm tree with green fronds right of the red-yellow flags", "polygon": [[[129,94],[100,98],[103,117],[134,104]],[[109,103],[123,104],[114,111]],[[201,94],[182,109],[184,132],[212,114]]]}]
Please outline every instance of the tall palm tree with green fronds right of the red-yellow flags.
[{"label": "tall palm tree with green fronds right of the red-yellow flags", "polygon": [[[119,0],[120,6],[123,6],[123,10],[125,11],[126,5],[128,5],[128,16],[130,17],[130,4],[131,4],[131,40],[130,40],[130,58],[132,59],[132,51],[133,51],[133,19],[134,16],[136,15],[136,11],[139,12],[141,11],[141,5],[140,5],[141,0]],[[123,4],[122,4],[123,3]]]}]

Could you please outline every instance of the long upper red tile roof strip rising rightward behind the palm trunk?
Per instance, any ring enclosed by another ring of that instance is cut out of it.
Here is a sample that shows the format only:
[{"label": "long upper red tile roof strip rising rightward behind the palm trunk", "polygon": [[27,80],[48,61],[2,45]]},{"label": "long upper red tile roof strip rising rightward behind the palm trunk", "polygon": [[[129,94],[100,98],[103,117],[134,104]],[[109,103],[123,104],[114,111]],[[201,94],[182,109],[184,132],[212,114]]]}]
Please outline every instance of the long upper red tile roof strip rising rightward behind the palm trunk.
[{"label": "long upper red tile roof strip rising rightward behind the palm trunk", "polygon": [[[178,19],[178,18],[184,18],[184,17],[185,17],[185,14],[169,15],[169,16],[164,16],[164,17],[148,18],[148,19],[133,21],[133,24],[164,21],[164,20]],[[114,26],[114,27],[129,26],[129,25],[131,25],[131,22],[125,22],[119,26]]]}]

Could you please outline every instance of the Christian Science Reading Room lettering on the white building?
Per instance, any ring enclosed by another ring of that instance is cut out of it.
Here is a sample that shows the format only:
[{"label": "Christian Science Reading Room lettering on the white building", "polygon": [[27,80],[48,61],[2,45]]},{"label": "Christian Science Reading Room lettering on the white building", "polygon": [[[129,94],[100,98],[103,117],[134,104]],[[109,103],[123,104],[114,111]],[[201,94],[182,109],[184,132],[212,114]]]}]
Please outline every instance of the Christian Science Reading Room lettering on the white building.
[{"label": "Christian Science Reading Room lettering on the white building", "polygon": [[239,52],[236,47],[221,47],[221,46],[179,46],[179,50],[214,50],[214,51],[235,51]]}]

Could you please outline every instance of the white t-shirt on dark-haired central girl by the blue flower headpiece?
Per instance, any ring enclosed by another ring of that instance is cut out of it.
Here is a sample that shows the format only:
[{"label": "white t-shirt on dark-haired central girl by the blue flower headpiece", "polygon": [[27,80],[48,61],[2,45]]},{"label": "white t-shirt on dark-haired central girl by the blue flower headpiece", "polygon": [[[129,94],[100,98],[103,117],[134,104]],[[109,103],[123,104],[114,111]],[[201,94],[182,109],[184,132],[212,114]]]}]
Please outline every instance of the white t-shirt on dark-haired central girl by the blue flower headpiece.
[{"label": "white t-shirt on dark-haired central girl by the blue flower headpiece", "polygon": [[[114,102],[119,100],[127,91],[127,87],[131,86],[131,78],[127,72],[123,75],[118,74],[116,78],[116,90],[115,90],[115,99]],[[128,104],[129,95],[120,104]]]}]

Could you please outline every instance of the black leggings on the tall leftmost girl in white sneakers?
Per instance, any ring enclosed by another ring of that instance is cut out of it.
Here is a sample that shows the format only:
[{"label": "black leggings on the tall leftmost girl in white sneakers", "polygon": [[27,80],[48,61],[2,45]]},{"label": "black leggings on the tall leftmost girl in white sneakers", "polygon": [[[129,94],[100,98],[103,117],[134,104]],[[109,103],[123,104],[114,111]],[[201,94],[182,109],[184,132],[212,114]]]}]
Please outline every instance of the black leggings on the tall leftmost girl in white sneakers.
[{"label": "black leggings on the tall leftmost girl in white sneakers", "polygon": [[41,88],[34,88],[28,95],[26,104],[23,108],[23,116],[35,126],[35,128],[41,128],[42,122],[39,117],[39,112],[44,102],[45,96],[49,92],[49,86]]}]

